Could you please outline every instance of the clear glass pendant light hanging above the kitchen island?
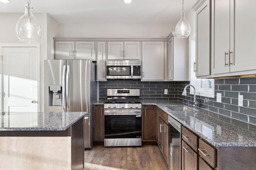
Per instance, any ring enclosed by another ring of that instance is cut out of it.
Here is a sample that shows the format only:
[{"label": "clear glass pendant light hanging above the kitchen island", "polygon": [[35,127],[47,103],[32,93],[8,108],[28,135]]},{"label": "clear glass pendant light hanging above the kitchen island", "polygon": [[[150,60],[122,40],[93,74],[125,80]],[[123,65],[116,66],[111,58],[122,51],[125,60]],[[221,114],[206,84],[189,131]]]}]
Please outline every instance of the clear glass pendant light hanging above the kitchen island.
[{"label": "clear glass pendant light hanging above the kitchen island", "polygon": [[42,37],[42,28],[32,13],[30,0],[25,5],[25,13],[16,24],[16,35],[21,42],[38,43]]}]

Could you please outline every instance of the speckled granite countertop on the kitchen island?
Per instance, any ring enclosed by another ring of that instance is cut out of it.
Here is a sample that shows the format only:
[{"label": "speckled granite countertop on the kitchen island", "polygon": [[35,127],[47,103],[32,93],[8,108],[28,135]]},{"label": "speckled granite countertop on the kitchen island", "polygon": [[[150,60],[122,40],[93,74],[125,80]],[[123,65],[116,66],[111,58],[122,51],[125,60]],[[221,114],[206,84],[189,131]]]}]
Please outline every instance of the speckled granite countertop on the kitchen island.
[{"label": "speckled granite countertop on the kitchen island", "polygon": [[2,112],[0,131],[64,131],[86,112]]}]

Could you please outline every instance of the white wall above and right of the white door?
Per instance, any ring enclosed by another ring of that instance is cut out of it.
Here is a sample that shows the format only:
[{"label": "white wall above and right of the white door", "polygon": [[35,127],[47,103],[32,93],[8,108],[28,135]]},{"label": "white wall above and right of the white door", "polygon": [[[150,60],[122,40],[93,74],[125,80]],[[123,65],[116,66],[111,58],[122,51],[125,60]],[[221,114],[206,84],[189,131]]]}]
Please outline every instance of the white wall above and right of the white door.
[{"label": "white wall above and right of the white door", "polygon": [[[17,21],[23,14],[0,14],[0,21],[3,25],[0,27],[0,43],[21,44],[16,36],[15,27]],[[58,23],[49,17],[46,13],[34,14],[42,27],[42,38],[40,39],[40,111],[43,110],[43,79],[44,79],[44,59],[48,59],[48,54],[53,59],[53,39],[58,32]],[[48,26],[48,23],[50,26]],[[52,27],[52,29],[51,29]]]}]

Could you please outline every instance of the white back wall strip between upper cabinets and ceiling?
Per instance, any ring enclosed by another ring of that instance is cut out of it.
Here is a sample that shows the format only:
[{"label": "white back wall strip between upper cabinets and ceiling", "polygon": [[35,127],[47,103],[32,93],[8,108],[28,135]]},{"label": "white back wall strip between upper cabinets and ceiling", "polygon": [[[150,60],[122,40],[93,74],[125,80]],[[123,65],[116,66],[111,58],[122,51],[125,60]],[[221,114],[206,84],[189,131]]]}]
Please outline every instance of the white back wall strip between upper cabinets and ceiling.
[{"label": "white back wall strip between upper cabinets and ceiling", "polygon": [[166,38],[176,24],[60,24],[58,37]]}]

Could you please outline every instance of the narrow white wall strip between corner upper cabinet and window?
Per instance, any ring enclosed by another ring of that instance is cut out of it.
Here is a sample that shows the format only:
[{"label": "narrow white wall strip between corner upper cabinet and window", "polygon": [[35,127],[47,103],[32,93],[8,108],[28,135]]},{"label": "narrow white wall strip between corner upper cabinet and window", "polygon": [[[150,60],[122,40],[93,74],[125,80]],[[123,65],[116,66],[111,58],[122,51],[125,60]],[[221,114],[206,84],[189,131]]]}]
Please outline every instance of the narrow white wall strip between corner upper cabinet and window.
[{"label": "narrow white wall strip between corner upper cabinet and window", "polygon": [[[194,39],[196,37],[196,12],[194,12],[194,10],[189,10],[187,13],[186,13],[186,20],[188,20],[188,22],[190,23],[190,27],[191,27],[191,32],[190,32],[190,35],[188,37],[188,41],[189,41],[189,44],[188,44],[188,48],[189,48],[189,53],[188,53],[188,56],[189,56],[189,70],[191,70],[191,51],[190,51],[190,43],[191,43],[191,40]],[[190,71],[189,71],[189,79],[190,79]]]}]

